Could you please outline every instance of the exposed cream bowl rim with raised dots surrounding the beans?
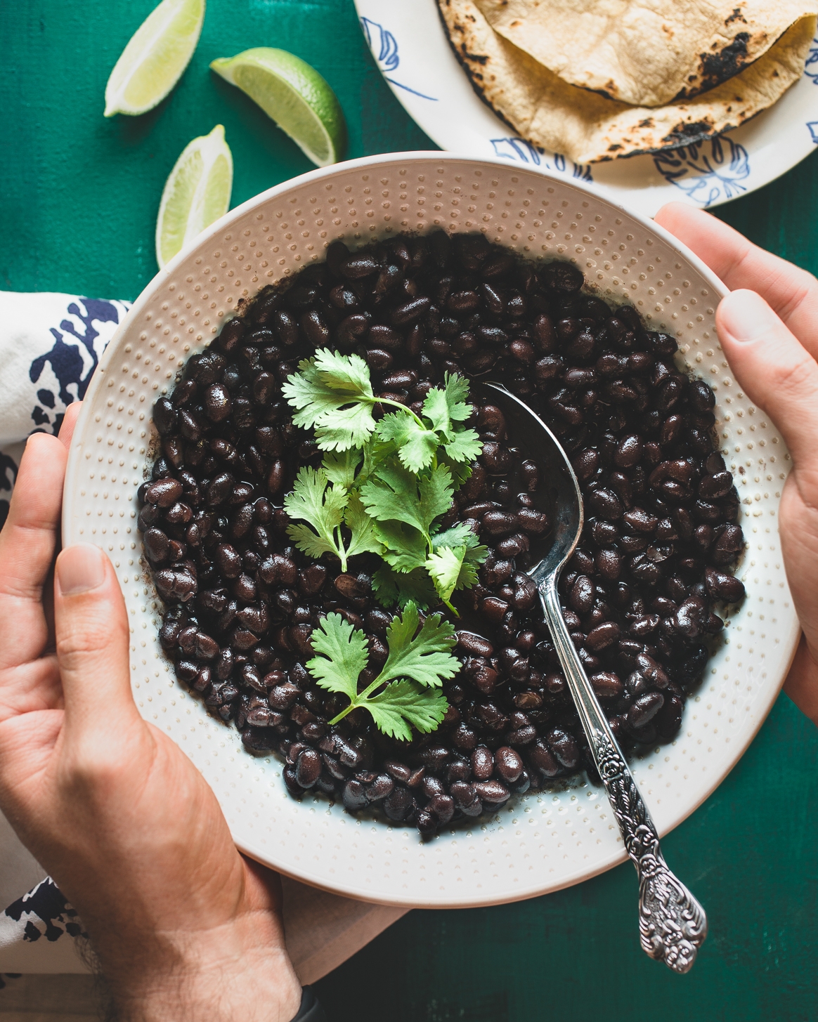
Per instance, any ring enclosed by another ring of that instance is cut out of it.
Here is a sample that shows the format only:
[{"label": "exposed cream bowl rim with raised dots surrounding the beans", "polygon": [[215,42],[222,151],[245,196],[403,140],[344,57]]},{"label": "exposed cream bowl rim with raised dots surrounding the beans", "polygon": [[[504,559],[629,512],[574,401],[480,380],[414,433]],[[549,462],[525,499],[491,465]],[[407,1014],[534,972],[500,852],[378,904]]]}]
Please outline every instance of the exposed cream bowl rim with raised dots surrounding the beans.
[{"label": "exposed cream bowl rim with raised dots surrounding the beans", "polygon": [[716,336],[723,286],[651,221],[579,184],[502,161],[450,154],[366,157],[296,178],[214,224],[136,300],[88,388],[65,481],[63,542],[112,561],[131,620],[131,680],[143,716],[167,732],[216,792],[236,844],[281,872],[369,901],[426,908],[493,904],[578,883],[625,851],[604,791],[587,781],[512,798],[493,817],[424,843],[410,827],[356,819],[324,798],[292,799],[281,763],[245,752],[174,677],[156,632],[162,604],[136,528],[153,403],[174,385],[241,299],[324,258],[401,231],[483,231],[532,258],[570,259],[605,298],[627,298],[651,329],[678,338],[680,364],[716,391],[721,450],[741,498],[747,591],[675,742],[633,763],[661,833],[714,790],[772,705],[799,625],[784,577],[778,505],[790,467],[775,427],[732,378]]}]

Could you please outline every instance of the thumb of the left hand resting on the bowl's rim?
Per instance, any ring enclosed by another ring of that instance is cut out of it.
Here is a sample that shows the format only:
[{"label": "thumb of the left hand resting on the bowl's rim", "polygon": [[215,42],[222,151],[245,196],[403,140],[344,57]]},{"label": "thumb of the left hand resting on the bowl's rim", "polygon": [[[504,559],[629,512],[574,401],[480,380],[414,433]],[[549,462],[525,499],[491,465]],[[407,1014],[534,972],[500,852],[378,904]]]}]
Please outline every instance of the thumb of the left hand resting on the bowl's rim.
[{"label": "thumb of the left hand resting on the bowl's rim", "polygon": [[138,716],[131,695],[125,600],[110,561],[87,543],[60,553],[54,582],[65,730],[102,739]]}]

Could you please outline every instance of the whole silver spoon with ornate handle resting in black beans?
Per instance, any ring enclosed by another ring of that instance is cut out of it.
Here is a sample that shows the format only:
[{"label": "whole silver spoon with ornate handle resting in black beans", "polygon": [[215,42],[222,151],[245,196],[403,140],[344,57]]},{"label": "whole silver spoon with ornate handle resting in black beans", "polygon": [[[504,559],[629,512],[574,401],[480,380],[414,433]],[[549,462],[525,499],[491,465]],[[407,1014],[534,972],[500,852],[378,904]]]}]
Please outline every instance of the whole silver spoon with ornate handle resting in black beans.
[{"label": "whole silver spoon with ornate handle resting in black beans", "polygon": [[486,382],[482,386],[493,391],[491,400],[505,415],[515,443],[520,440],[520,446],[535,455],[555,492],[550,549],[539,563],[529,569],[529,574],[537,584],[569,689],[610,807],[620,825],[625,847],[639,876],[642,949],[674,972],[687,972],[708,935],[705,911],[665,862],[656,828],[597,702],[559,606],[556,591],[559,574],[574,553],[583,526],[583,501],[577,476],[557,438],[525,402],[499,383]]}]

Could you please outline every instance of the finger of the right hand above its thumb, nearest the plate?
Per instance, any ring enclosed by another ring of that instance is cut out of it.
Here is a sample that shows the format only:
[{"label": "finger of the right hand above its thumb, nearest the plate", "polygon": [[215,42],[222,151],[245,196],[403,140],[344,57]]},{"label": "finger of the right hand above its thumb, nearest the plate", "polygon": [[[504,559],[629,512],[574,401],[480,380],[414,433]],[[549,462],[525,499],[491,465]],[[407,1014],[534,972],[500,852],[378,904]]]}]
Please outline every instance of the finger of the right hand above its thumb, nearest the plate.
[{"label": "finger of the right hand above its thumb, nearest the plate", "polygon": [[710,213],[669,202],[655,216],[703,260],[731,291],[758,291],[813,357],[818,357],[818,280],[806,270],[759,248]]}]

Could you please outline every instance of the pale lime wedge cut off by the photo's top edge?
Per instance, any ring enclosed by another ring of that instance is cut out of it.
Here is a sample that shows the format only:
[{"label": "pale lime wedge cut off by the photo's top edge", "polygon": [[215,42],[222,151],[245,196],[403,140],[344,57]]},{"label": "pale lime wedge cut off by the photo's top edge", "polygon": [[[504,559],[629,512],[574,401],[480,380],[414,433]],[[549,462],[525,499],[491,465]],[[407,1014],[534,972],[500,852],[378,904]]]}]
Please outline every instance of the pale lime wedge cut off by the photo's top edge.
[{"label": "pale lime wedge cut off by the photo's top edge", "polygon": [[144,113],[162,102],[193,56],[204,0],[163,0],[139,26],[105,86],[105,117]]}]

